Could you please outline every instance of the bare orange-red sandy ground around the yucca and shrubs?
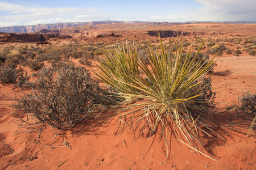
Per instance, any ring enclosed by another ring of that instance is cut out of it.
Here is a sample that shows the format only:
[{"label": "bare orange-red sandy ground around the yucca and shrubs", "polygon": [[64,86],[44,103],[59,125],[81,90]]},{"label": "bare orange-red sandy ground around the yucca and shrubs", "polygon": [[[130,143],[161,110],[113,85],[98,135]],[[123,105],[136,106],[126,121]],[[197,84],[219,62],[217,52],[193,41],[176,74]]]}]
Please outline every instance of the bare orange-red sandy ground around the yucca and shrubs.
[{"label": "bare orange-red sandy ground around the yucca and shrubs", "polygon": [[[225,28],[223,29],[226,31]],[[65,44],[67,41],[62,43]],[[93,65],[88,69],[97,70],[97,67]],[[171,145],[168,150],[164,140],[159,141],[158,134],[150,137],[148,143],[143,135],[135,142],[134,134],[129,131],[122,135],[114,135],[116,120],[107,123],[100,120],[86,121],[77,127],[77,131],[67,131],[66,137],[56,135],[56,130],[47,127],[43,130],[38,143],[38,133],[17,133],[19,118],[10,108],[15,96],[31,90],[18,91],[12,84],[7,84],[0,85],[0,167],[1,169],[256,169],[255,131],[251,131],[246,137],[251,121],[247,120],[246,116],[238,114],[234,107],[238,104],[238,95],[242,95],[242,92],[256,92],[256,57],[247,53],[238,57],[224,54],[218,58],[214,71],[216,74],[212,76],[213,88],[216,88],[214,90],[216,101],[220,104],[209,112],[216,119],[216,126],[219,127],[217,132],[221,137],[205,138],[205,148],[200,148],[200,151],[210,158],[177,141],[174,134],[171,135]],[[167,153],[170,155],[168,159]],[[57,167],[58,165],[60,166]]]}]

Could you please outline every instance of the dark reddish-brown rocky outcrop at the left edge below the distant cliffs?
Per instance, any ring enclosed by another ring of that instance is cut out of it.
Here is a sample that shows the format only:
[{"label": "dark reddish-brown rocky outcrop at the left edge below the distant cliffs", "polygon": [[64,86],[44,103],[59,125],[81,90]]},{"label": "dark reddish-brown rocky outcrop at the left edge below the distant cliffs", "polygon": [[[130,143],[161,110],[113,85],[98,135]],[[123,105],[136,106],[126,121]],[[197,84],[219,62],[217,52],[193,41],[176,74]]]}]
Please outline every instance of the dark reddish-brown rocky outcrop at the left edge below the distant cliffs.
[{"label": "dark reddish-brown rocky outcrop at the left edge below the distant cliffs", "polygon": [[24,42],[43,42],[51,38],[59,37],[61,39],[69,39],[71,36],[61,36],[57,34],[48,34],[48,33],[0,33],[0,41],[2,42],[15,42],[15,41],[24,41]]}]

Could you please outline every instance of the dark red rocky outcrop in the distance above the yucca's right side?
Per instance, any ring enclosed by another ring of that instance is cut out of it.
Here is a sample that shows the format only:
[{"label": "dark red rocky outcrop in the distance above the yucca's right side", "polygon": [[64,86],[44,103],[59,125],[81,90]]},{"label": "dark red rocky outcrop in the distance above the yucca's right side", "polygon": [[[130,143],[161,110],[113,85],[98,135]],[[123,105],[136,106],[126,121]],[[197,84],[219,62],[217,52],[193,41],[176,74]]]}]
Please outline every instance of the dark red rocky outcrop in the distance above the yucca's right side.
[{"label": "dark red rocky outcrop in the distance above the yucca's right side", "polygon": [[181,32],[181,31],[171,31],[171,30],[166,30],[166,31],[148,31],[147,35],[150,36],[158,36],[158,33],[160,35],[161,38],[165,38],[165,37],[177,37],[177,36],[186,36],[186,35],[205,35],[205,32]]}]

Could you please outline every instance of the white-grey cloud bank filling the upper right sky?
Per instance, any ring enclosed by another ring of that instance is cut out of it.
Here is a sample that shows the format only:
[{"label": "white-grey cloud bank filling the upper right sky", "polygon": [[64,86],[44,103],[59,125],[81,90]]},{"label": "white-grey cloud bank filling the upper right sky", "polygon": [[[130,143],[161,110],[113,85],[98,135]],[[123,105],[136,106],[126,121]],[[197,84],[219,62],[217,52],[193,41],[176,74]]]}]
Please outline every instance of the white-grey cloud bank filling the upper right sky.
[{"label": "white-grey cloud bank filling the upper right sky", "polygon": [[152,16],[152,19],[168,22],[187,21],[238,21],[256,20],[255,0],[194,0],[203,8],[195,9],[183,14]]}]

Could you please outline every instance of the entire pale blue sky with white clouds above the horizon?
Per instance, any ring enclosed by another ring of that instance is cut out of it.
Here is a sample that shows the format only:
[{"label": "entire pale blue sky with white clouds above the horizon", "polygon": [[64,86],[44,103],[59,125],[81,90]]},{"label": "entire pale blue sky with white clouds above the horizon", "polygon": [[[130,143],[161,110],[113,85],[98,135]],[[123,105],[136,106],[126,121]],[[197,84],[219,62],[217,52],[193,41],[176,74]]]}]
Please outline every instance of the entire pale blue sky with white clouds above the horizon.
[{"label": "entire pale blue sky with white clouds above the horizon", "polygon": [[0,27],[98,20],[256,21],[256,0],[0,0]]}]

